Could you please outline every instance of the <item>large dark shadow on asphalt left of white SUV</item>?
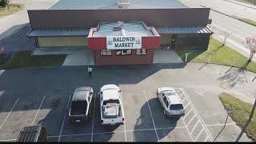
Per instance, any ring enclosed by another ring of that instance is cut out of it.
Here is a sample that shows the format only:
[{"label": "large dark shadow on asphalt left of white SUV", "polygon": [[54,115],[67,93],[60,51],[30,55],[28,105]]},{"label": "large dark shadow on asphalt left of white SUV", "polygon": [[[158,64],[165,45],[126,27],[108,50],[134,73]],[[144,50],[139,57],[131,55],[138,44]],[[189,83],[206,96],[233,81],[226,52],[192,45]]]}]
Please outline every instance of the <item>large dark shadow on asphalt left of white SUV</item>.
[{"label": "large dark shadow on asphalt left of white SUV", "polygon": [[148,102],[145,102],[140,113],[141,115],[134,126],[134,142],[161,141],[174,130],[180,118],[170,118],[163,114],[163,109],[158,98],[151,98]]}]

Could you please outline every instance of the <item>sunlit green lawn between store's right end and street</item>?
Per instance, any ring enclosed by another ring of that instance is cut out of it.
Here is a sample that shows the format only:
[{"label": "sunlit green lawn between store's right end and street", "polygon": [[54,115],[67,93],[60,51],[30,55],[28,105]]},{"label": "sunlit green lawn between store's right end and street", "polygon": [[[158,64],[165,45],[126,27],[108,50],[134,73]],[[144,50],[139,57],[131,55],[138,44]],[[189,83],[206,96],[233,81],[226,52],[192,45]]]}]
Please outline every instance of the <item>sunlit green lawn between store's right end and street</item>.
[{"label": "sunlit green lawn between store's right end and street", "polygon": [[[189,53],[188,62],[194,63],[208,62],[208,58],[210,58],[209,63],[232,66],[234,63],[234,58],[236,58],[236,63],[234,66],[241,67],[247,62],[247,58],[245,56],[228,46],[222,46],[222,42],[219,42],[214,38],[210,39],[208,50],[206,51],[177,51],[177,54],[180,55],[183,61],[185,61],[186,53]],[[250,64],[246,67],[246,70],[256,73],[256,62],[250,62]]]}]

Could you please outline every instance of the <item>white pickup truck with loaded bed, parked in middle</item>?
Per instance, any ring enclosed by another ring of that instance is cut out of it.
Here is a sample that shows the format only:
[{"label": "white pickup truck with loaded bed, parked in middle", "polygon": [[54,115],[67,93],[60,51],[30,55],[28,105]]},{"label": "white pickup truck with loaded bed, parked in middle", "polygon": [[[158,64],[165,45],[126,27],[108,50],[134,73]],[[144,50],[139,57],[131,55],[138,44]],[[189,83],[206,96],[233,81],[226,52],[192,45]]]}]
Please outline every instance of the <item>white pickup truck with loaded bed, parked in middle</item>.
[{"label": "white pickup truck with loaded bed, parked in middle", "polygon": [[124,123],[122,106],[122,91],[116,85],[102,86],[100,92],[102,125],[116,125]]}]

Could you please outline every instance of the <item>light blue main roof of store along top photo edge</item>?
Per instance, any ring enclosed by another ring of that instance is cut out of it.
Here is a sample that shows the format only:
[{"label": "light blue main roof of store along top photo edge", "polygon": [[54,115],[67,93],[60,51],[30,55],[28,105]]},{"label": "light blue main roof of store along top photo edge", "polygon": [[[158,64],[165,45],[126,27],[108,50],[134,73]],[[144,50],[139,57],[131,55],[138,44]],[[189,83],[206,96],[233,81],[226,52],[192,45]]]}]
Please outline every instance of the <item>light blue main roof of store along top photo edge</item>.
[{"label": "light blue main roof of store along top photo edge", "polygon": [[[128,9],[187,8],[177,0],[129,0]],[[118,9],[117,0],[59,0],[49,10],[109,10]]]}]

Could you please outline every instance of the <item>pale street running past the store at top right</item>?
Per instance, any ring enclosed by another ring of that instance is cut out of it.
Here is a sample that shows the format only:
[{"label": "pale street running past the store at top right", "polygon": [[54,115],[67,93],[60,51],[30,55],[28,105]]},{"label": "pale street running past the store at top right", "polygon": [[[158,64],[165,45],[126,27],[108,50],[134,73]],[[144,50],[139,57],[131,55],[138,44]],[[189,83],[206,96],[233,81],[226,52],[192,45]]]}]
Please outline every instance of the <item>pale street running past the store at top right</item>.
[{"label": "pale street running past the store at top right", "polygon": [[[189,7],[202,7],[206,6],[214,10],[218,10],[224,14],[233,15],[241,18],[250,18],[256,21],[256,10],[237,5],[224,0],[180,0],[183,4]],[[202,5],[202,6],[200,6]],[[231,31],[232,34],[227,38],[226,45],[234,48],[241,54],[249,57],[250,50],[246,49],[243,45],[245,38],[256,34],[256,26],[251,26],[245,22],[238,21],[237,19],[230,18],[224,14],[220,14],[210,10],[210,19],[212,19],[211,29],[214,31],[214,38],[222,41],[222,31]],[[254,61],[256,58],[254,57]]]}]

